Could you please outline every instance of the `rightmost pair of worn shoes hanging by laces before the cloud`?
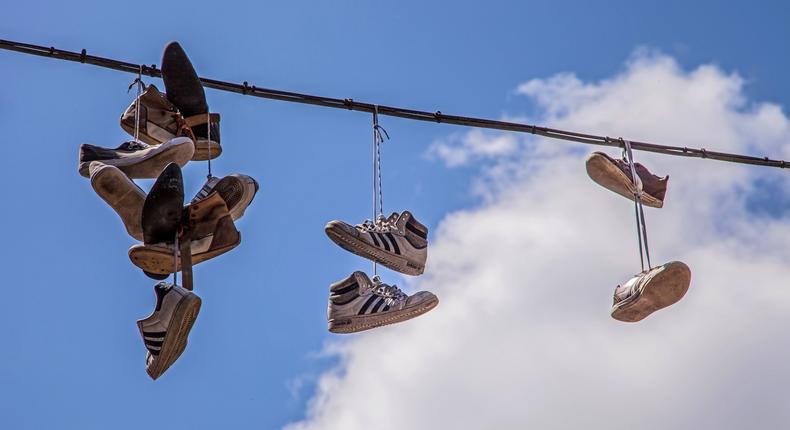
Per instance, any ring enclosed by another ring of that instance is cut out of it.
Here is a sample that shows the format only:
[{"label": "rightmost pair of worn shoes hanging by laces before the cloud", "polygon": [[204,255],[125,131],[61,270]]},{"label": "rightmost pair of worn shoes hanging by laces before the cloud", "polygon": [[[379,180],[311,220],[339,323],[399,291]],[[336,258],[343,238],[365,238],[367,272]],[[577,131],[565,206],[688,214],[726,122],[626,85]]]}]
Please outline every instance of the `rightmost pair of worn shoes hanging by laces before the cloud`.
[{"label": "rightmost pair of worn shoes hanging by laces before the cloud", "polygon": [[[654,208],[664,206],[669,176],[661,178],[650,173],[642,164],[635,163],[630,142],[623,139],[621,142],[622,159],[616,160],[602,152],[594,152],[587,158],[586,168],[593,181],[634,201],[642,271],[615,288],[611,315],[619,321],[637,322],[680,301],[691,284],[691,270],[680,261],[651,266],[643,205]],[[644,257],[647,259],[647,269],[644,267]]]}]

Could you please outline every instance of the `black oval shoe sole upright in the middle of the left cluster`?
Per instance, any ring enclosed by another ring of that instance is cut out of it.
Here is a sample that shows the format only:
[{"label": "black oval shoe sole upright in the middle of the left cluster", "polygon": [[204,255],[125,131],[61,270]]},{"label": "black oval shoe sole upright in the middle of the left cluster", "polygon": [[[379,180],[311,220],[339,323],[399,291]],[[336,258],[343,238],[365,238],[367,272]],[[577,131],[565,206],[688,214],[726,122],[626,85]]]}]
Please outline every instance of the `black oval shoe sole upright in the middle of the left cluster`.
[{"label": "black oval shoe sole upright in the middle of the left cluster", "polygon": [[161,171],[143,203],[143,242],[172,242],[180,227],[183,207],[181,168],[170,163]]}]

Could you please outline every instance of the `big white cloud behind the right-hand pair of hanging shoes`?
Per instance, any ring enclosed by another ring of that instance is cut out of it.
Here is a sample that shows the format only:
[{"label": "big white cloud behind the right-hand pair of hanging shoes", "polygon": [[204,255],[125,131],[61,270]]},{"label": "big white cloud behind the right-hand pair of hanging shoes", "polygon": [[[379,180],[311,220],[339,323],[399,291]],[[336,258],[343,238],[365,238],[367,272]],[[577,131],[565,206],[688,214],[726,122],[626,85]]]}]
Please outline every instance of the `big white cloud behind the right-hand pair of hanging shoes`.
[{"label": "big white cloud behind the right-hand pair of hanging shoes", "polygon": [[[788,118],[742,86],[648,53],[605,81],[563,74],[518,91],[542,109],[536,122],[558,128],[787,158]],[[432,233],[413,283],[439,307],[338,340],[341,364],[288,428],[786,425],[790,217],[748,202],[765,181],[786,188],[790,172],[637,153],[670,174],[665,207],[647,214],[654,261],[682,260],[693,275],[680,303],[629,325],[608,311],[614,286],[639,270],[633,206],[587,178],[579,145],[502,139],[471,132],[448,146],[448,165],[498,161],[482,173],[484,203]]]}]

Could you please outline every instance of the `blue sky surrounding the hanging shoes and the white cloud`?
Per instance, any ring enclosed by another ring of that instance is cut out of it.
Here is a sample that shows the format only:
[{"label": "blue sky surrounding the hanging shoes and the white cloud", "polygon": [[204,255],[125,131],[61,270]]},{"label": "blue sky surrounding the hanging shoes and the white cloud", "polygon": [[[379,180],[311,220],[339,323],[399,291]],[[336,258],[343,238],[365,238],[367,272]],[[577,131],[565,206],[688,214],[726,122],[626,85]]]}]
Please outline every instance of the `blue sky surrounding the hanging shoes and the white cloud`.
[{"label": "blue sky surrounding the hanging shoes and the white cloud", "polygon": [[[4,8],[0,38],[146,64],[178,40],[204,77],[491,118],[541,117],[520,84],[562,72],[608,79],[648,47],[683,70],[737,72],[747,108],[786,110],[790,10],[692,3],[31,1]],[[325,325],[328,285],[370,268],[323,233],[329,220],[369,216],[369,115],[207,90],[222,114],[215,173],[252,175],[261,189],[237,224],[241,246],[196,267],[203,308],[189,346],[152,382],[135,321],[153,307],[153,282],[131,265],[133,240],[77,172],[80,143],[127,139],[118,117],[133,76],[3,51],[0,79],[10,185],[0,211],[0,427],[279,428],[303,419],[319,376],[339,360],[322,353],[336,339]],[[426,156],[464,130],[387,117],[382,125],[392,138],[385,210],[409,209],[436,229],[480,204],[480,167]],[[195,192],[205,165],[184,174]],[[750,197],[750,210],[782,213]]]}]

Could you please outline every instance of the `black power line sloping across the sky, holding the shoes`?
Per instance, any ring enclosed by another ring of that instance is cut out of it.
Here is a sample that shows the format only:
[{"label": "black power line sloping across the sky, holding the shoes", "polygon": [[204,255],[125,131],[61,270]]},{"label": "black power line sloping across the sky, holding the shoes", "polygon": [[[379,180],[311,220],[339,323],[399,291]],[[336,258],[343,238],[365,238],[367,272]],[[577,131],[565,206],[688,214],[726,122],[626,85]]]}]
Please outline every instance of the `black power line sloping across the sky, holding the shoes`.
[{"label": "black power line sloping across the sky, holding the shoes", "polygon": [[[160,78],[162,72],[155,64],[150,66],[127,63],[125,61],[113,60],[110,58],[88,55],[83,49],[81,52],[64,51],[54,47],[32,45],[29,43],[12,42],[0,39],[0,48],[9,51],[21,52],[24,54],[50,57],[58,60],[75,61],[80,63],[93,64],[113,70],[127,73],[142,73],[146,76]],[[441,111],[425,112],[414,109],[404,109],[392,106],[374,105],[371,103],[358,102],[353,99],[338,99],[332,97],[314,96],[310,94],[294,93],[289,91],[273,90],[249,85],[246,81],[242,84],[218,81],[215,79],[200,78],[204,87],[213,88],[221,91],[261,97],[265,99],[282,100],[293,103],[304,103],[317,106],[331,107],[336,109],[356,110],[361,112],[373,113],[378,110],[379,115],[388,115],[399,118],[412,119],[417,121],[437,122],[444,124],[454,124],[466,127],[487,128],[493,130],[515,131],[519,133],[530,133],[552,139],[568,140],[573,142],[586,143],[591,145],[611,146],[622,148],[623,142],[620,139],[613,139],[607,136],[596,136],[593,134],[577,133],[573,131],[558,130],[554,128],[541,127],[537,125],[521,124],[508,121],[497,121],[485,118],[465,117],[458,115],[447,115]],[[729,154],[726,152],[708,151],[705,148],[687,148],[681,146],[667,146],[655,143],[631,141],[631,148],[640,151],[656,152],[659,154],[675,155],[681,157],[709,158],[712,160],[728,161],[732,163],[753,164],[758,166],[785,168],[790,163],[784,160],[772,160],[768,157],[753,157],[749,155]]]}]

